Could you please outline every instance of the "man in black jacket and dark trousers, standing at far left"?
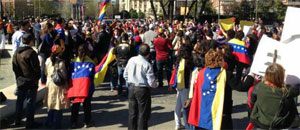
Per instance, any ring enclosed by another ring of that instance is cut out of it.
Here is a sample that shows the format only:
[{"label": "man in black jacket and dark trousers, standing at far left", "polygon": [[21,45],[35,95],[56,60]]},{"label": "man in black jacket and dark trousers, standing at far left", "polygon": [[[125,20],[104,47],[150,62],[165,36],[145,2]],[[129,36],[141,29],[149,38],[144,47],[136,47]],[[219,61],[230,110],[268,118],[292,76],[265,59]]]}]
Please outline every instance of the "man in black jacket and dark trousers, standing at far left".
[{"label": "man in black jacket and dark trousers, standing at far left", "polygon": [[40,63],[37,53],[32,49],[33,35],[27,33],[23,36],[21,45],[13,56],[13,71],[17,81],[17,101],[15,111],[15,125],[19,126],[22,119],[23,102],[26,99],[26,128],[35,128],[34,110],[41,77]]}]

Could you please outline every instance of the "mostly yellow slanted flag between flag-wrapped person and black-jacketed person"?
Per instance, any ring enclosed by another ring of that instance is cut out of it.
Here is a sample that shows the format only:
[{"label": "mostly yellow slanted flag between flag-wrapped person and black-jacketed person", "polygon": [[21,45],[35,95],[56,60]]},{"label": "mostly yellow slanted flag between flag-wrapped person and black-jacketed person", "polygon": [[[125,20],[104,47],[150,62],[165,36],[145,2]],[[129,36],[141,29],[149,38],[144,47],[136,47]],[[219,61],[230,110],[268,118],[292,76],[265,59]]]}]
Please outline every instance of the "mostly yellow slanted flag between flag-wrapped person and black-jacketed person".
[{"label": "mostly yellow slanted flag between flag-wrapped person and black-jacketed person", "polygon": [[108,65],[116,59],[116,56],[112,53],[114,48],[111,48],[109,52],[105,55],[99,65],[95,67],[95,79],[94,84],[95,86],[99,86],[103,83]]}]

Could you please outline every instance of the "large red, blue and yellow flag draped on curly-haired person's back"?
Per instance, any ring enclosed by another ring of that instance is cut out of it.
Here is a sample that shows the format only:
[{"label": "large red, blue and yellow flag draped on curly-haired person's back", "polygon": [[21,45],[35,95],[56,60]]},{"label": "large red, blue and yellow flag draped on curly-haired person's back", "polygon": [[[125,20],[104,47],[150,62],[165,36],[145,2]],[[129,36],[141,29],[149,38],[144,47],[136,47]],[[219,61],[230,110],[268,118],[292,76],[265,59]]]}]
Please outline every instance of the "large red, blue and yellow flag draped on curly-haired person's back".
[{"label": "large red, blue and yellow flag draped on curly-haired person's back", "polygon": [[226,71],[203,68],[194,84],[188,123],[209,130],[220,130],[222,124]]}]

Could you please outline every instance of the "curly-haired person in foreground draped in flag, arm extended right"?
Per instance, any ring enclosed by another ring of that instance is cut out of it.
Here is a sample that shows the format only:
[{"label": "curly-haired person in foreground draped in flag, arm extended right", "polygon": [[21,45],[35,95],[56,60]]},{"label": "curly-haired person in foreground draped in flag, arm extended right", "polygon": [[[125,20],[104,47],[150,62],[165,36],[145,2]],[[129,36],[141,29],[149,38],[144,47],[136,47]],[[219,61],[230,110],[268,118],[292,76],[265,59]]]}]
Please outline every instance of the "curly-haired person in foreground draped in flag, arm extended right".
[{"label": "curly-haired person in foreground draped in flag, arm extended right", "polygon": [[185,105],[190,103],[188,123],[196,129],[232,129],[232,89],[246,91],[254,79],[247,76],[243,82],[237,80],[231,64],[224,68],[224,54],[219,49],[209,50],[204,64],[193,79],[190,89],[194,94]]}]

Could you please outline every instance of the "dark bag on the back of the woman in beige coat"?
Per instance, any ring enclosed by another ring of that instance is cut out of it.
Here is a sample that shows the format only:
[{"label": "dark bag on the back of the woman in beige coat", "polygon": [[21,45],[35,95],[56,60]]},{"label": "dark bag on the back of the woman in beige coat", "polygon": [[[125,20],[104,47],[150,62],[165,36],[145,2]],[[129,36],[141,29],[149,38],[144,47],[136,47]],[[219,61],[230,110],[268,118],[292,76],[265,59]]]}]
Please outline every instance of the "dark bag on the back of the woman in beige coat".
[{"label": "dark bag on the back of the woman in beige coat", "polygon": [[66,84],[66,79],[62,74],[62,70],[59,69],[59,63],[63,62],[60,59],[57,59],[55,65],[54,65],[54,72],[51,75],[51,78],[54,82],[54,84],[56,84],[59,87],[63,87]]}]

